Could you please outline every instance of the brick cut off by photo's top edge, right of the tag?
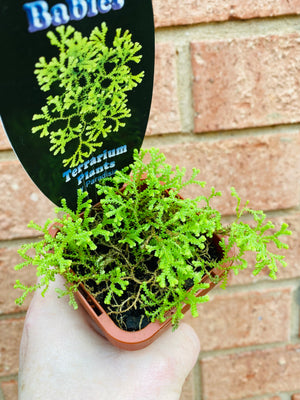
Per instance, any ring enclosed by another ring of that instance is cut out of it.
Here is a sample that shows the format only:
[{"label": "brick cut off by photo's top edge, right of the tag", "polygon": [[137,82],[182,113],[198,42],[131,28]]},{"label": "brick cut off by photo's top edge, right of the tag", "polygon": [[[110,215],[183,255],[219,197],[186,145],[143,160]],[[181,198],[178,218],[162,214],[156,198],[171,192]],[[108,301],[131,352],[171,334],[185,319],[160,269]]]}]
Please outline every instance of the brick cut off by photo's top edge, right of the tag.
[{"label": "brick cut off by photo's top edge, right of the tag", "polygon": [[299,14],[299,0],[153,0],[157,27]]}]

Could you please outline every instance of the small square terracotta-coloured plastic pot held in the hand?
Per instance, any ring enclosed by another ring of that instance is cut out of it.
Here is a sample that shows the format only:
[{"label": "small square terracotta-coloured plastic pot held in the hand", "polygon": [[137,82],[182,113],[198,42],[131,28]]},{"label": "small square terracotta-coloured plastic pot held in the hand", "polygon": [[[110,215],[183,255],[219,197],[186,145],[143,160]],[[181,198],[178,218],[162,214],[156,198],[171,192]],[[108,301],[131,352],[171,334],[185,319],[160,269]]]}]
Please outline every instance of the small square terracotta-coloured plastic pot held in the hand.
[{"label": "small square terracotta-coloured plastic pot held in the hand", "polygon": [[[49,228],[49,233],[53,237],[57,234],[58,231],[59,229],[57,228],[57,225],[51,226]],[[223,252],[219,245],[220,240],[221,239],[219,236],[214,235],[214,245],[216,246],[218,253],[222,256]],[[221,277],[224,273],[224,270],[229,266],[230,265],[228,263],[224,264],[222,266],[222,269],[214,268],[210,272],[210,274],[212,276]],[[208,283],[209,287],[207,289],[199,290],[196,294],[197,297],[207,294],[211,289],[216,286],[216,283],[211,282],[208,275],[205,275],[202,278],[201,282]],[[77,299],[91,317],[95,327],[100,329],[101,334],[105,336],[114,346],[124,350],[140,350],[144,347],[147,347],[171,325],[171,316],[175,312],[175,310],[171,310],[167,314],[168,318],[163,323],[151,322],[143,329],[129,332],[120,329],[112,321],[112,319],[103,309],[101,304],[99,304],[96,299],[86,290],[83,284],[81,284],[78,288]],[[185,314],[189,310],[189,308],[189,305],[184,305],[182,312]]]}]

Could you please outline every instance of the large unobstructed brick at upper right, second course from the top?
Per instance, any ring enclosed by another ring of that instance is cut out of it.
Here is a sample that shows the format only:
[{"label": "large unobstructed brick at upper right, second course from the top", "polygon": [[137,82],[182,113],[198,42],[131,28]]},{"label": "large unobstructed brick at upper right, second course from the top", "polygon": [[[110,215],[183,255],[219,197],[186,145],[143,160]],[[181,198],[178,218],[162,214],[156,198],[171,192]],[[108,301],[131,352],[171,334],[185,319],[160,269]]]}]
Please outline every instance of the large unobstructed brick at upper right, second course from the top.
[{"label": "large unobstructed brick at upper right, second course from the top", "polygon": [[300,35],[195,42],[195,131],[300,121]]}]

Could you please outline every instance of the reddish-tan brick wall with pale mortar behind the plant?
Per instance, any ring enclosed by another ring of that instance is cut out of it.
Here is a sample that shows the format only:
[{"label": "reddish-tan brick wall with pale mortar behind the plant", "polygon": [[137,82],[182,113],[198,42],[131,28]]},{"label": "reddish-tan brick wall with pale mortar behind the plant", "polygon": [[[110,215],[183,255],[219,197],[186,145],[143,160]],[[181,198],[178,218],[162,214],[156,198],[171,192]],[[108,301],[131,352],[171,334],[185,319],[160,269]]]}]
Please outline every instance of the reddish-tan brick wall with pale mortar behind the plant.
[{"label": "reddish-tan brick wall with pale mortar behind the plant", "polygon": [[[253,208],[287,221],[288,267],[277,281],[246,271],[187,320],[202,343],[182,400],[300,399],[300,0],[153,0],[156,72],[145,147],[197,167],[233,212],[235,186]],[[17,399],[28,302],[14,304],[16,249],[52,204],[0,129],[0,400]],[[190,193],[192,194],[192,193]],[[251,263],[251,260],[250,260]],[[33,276],[24,276],[28,282]]]}]

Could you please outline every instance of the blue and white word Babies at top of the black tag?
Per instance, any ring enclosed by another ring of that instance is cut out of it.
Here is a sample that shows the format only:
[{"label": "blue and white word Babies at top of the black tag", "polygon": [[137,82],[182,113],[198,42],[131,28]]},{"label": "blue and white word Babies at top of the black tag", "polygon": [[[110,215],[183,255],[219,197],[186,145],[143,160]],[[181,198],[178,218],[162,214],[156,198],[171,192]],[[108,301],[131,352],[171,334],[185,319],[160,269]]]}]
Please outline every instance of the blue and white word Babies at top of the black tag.
[{"label": "blue and white word Babies at top of the black tag", "polygon": [[25,3],[23,9],[28,19],[29,32],[37,32],[49,26],[65,25],[69,21],[79,21],[85,17],[106,14],[111,10],[120,10],[125,0],[66,0],[49,9],[44,0]]}]

